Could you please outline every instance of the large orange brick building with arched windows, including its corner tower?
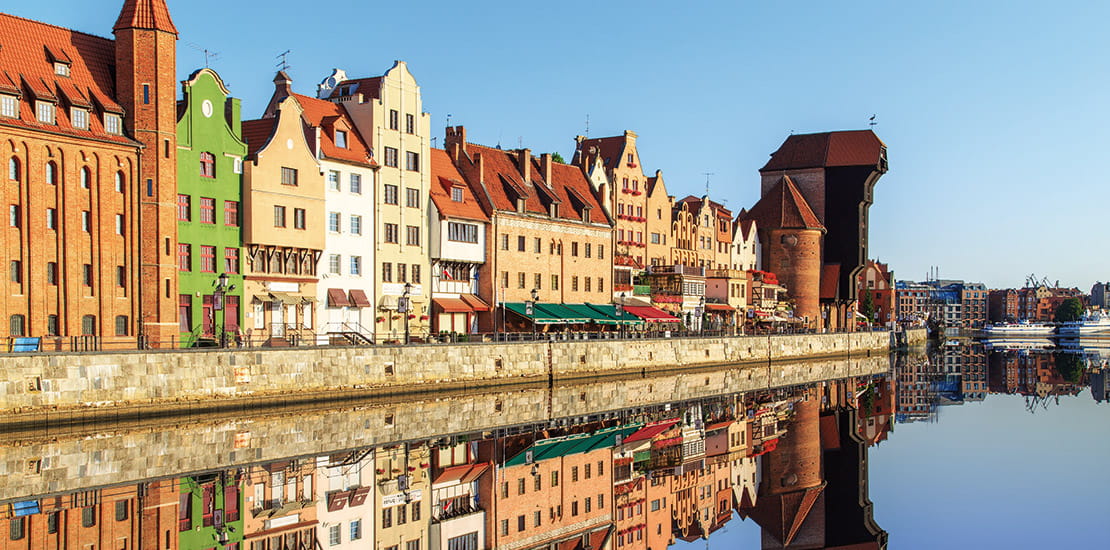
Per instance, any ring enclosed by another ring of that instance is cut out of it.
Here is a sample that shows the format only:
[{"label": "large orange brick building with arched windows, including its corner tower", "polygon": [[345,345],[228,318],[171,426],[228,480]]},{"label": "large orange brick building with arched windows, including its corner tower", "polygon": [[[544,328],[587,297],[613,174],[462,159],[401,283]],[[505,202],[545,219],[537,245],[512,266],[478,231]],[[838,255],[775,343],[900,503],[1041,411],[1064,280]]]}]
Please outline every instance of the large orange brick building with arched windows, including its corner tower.
[{"label": "large orange brick building with arched windows, including its corner tower", "polygon": [[0,14],[18,37],[0,50],[0,336],[175,340],[176,29],[163,0],[128,0],[113,32]]}]

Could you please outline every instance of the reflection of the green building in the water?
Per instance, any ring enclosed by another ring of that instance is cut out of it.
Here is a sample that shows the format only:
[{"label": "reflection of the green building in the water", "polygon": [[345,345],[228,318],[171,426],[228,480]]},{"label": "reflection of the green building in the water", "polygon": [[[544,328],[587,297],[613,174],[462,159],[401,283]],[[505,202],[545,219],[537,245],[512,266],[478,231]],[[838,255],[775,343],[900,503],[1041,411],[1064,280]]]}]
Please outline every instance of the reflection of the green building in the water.
[{"label": "reflection of the green building in the water", "polygon": [[243,543],[243,491],[234,470],[181,478],[178,549],[239,548]]}]

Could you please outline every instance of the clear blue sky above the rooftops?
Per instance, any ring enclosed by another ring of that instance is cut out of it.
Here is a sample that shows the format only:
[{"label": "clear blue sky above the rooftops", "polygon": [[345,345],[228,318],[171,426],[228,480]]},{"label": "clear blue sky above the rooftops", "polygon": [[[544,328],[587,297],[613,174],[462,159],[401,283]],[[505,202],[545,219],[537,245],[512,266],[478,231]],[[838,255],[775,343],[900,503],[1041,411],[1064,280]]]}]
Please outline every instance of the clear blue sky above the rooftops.
[{"label": "clear blue sky above the rooftops", "polygon": [[[108,36],[122,1],[3,9]],[[866,128],[890,152],[871,256],[896,276],[1020,286],[1036,272],[1090,290],[1110,279],[1110,3],[418,2],[169,0],[179,76],[212,63],[256,117],[275,56],[294,87],[333,67],[376,76],[403,59],[436,136],[568,157],[574,137],[639,137],[668,191],[734,210],[791,132]]]}]

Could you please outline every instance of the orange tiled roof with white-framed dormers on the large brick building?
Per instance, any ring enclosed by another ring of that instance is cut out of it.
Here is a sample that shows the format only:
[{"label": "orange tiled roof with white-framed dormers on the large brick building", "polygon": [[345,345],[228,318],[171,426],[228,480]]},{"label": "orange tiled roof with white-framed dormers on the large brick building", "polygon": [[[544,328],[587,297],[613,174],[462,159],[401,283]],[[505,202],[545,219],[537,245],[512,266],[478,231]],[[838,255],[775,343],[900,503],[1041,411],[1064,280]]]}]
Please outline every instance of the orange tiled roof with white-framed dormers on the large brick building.
[{"label": "orange tiled roof with white-framed dormers on the large brick building", "polygon": [[[54,73],[56,59],[69,62],[69,77]],[[22,96],[19,117],[0,119],[0,124],[138,146],[104,131],[103,111],[123,112],[114,99],[114,67],[115,43],[110,39],[0,13],[0,89]],[[34,98],[59,101],[54,124],[38,121]],[[88,129],[74,128],[71,104],[101,112],[90,113]]]}]

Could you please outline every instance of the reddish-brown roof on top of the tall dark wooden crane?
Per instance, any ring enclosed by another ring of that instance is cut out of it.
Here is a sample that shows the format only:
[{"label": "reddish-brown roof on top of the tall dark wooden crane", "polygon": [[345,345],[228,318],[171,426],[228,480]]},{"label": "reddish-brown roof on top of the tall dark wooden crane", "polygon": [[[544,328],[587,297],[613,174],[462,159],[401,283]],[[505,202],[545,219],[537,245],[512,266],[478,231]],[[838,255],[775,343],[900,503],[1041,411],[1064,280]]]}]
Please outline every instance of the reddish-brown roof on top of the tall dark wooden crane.
[{"label": "reddish-brown roof on top of the tall dark wooden crane", "polygon": [[884,147],[871,130],[790,136],[759,171],[875,166]]}]

